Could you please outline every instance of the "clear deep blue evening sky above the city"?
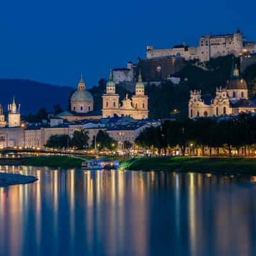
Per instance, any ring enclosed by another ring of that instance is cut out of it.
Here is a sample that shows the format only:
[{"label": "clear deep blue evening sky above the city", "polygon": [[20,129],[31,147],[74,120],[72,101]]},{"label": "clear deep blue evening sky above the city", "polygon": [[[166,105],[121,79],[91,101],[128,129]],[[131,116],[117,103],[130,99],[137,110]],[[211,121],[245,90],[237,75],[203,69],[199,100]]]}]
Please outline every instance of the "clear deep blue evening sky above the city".
[{"label": "clear deep blue evening sky above the city", "polygon": [[109,68],[145,58],[146,45],[197,46],[205,34],[241,29],[256,40],[253,0],[54,1],[0,3],[0,78],[88,87]]}]

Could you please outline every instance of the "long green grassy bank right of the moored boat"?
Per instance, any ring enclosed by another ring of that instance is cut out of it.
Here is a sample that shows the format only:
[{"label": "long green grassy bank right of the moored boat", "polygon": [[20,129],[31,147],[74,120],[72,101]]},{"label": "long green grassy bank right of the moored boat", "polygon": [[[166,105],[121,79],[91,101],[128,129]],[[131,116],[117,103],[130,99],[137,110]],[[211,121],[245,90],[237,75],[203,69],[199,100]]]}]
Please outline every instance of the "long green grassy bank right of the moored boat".
[{"label": "long green grassy bank right of the moored boat", "polygon": [[229,172],[256,175],[256,158],[234,157],[138,157],[124,161],[126,170],[179,170]]}]

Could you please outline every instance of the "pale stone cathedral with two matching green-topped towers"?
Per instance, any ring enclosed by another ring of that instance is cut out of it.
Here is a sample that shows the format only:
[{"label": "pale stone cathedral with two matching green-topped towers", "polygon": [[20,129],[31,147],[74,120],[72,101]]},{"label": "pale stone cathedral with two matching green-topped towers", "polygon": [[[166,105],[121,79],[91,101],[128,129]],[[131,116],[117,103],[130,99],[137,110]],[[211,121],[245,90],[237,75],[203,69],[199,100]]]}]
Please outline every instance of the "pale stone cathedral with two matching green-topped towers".
[{"label": "pale stone cathedral with two matching green-topped towers", "polygon": [[106,93],[102,95],[102,117],[131,116],[134,119],[148,118],[148,97],[145,95],[145,86],[142,83],[141,73],[135,85],[135,95],[129,99],[126,95],[119,103],[119,95],[116,93],[116,84],[113,81],[113,74],[110,72],[109,81],[106,84]]}]

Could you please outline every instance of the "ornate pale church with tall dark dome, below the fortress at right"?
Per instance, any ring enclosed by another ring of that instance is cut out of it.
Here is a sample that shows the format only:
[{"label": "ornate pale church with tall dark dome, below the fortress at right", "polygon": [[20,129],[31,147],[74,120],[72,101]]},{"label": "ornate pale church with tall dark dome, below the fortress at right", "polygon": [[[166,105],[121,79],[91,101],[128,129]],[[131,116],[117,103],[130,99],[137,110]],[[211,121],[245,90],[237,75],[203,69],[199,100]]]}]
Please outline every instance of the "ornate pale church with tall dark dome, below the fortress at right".
[{"label": "ornate pale church with tall dark dome, below the fortress at right", "polygon": [[216,88],[216,97],[207,101],[202,99],[201,91],[191,91],[188,108],[189,118],[256,113],[256,104],[248,100],[248,86],[237,66],[234,66],[234,61],[230,79],[224,88]]}]

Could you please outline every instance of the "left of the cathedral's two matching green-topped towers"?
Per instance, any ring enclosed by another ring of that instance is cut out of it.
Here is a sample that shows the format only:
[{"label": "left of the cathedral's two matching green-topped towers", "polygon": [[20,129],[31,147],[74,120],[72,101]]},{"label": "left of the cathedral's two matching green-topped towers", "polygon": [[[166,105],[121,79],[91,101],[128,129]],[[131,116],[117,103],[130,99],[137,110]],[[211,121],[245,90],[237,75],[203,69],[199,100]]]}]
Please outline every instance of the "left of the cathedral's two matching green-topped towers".
[{"label": "left of the cathedral's two matching green-topped towers", "polygon": [[119,95],[116,93],[116,84],[110,71],[109,81],[106,84],[106,93],[102,95],[102,117],[107,118],[120,115]]}]

